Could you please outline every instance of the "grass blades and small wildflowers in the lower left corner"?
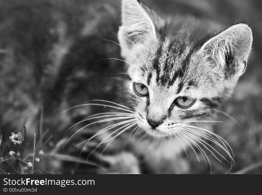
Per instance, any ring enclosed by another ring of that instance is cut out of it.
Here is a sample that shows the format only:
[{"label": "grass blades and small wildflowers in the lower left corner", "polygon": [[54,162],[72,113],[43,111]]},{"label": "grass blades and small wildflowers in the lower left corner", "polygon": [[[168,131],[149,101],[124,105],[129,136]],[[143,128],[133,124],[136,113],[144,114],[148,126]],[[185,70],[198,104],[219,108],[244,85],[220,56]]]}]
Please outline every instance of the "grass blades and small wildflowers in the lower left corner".
[{"label": "grass blades and small wildflowers in the lower left corner", "polygon": [[[43,110],[43,108],[41,109]],[[48,147],[52,141],[53,135],[47,136],[49,129],[40,132],[43,127],[43,111],[40,116],[40,129],[34,133],[33,139],[26,138],[26,123],[21,128],[24,135],[24,141],[21,145],[14,145],[6,138],[3,141],[2,131],[0,128],[0,171],[1,174],[61,174],[57,166],[53,166],[57,162],[59,164],[66,162],[86,164],[96,167],[97,165],[92,162],[87,162],[85,159],[62,154],[58,151],[61,150],[67,138],[62,138],[57,141],[54,148]],[[36,134],[41,136],[37,140]],[[31,148],[33,142],[33,147]],[[29,147],[29,148],[28,148]],[[9,154],[11,152],[11,155]]]}]

